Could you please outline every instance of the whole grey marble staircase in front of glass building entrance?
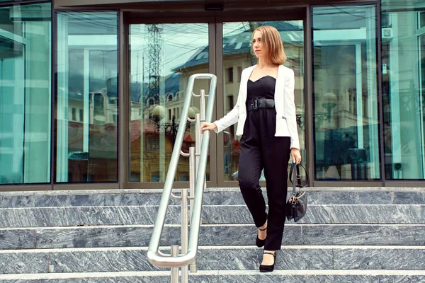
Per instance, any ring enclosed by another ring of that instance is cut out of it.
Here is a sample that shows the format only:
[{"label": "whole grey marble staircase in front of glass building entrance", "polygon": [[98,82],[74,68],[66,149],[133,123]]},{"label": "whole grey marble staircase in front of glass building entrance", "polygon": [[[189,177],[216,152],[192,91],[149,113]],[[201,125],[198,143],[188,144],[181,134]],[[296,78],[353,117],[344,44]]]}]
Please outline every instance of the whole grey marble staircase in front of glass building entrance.
[{"label": "whole grey marble staircase in front of glass building entrance", "polygon": [[[260,274],[256,228],[237,188],[205,192],[191,282],[425,282],[423,188],[310,188]],[[169,282],[147,262],[160,190],[2,192],[0,282]],[[164,249],[180,241],[171,201]]]}]

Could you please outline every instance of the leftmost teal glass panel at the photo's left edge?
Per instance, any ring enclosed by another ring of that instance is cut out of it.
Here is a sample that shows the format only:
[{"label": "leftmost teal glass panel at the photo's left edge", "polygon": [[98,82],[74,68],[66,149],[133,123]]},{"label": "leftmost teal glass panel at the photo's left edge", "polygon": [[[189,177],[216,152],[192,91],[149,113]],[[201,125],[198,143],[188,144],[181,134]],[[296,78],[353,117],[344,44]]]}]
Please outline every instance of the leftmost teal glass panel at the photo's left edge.
[{"label": "leftmost teal glass panel at the photo's left edge", "polygon": [[50,182],[50,14],[0,8],[0,184]]}]

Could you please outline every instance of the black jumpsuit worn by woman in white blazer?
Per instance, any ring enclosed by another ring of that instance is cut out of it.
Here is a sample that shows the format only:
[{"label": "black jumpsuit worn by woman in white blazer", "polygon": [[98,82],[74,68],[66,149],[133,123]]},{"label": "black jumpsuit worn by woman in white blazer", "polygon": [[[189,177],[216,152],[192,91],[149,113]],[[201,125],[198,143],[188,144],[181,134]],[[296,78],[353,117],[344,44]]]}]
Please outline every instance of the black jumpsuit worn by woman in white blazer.
[{"label": "black jumpsuit worn by woman in white blazer", "polygon": [[[248,81],[246,120],[238,171],[239,187],[255,225],[261,227],[268,219],[265,250],[280,250],[282,243],[290,137],[275,137],[276,108],[250,111],[248,105],[255,97],[274,99],[275,85],[276,79],[272,76]],[[267,184],[268,215],[259,184],[263,168]]]}]

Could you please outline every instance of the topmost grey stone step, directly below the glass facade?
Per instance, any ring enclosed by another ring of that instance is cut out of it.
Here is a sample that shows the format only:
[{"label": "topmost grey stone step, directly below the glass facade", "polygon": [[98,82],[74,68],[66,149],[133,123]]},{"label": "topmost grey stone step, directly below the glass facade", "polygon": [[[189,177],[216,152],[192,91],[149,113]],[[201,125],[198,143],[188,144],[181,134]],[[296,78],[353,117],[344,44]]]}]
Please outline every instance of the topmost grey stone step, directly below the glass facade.
[{"label": "topmost grey stone step, directly below the glass facade", "polygon": [[[424,188],[309,187],[309,204],[424,204]],[[178,193],[179,190],[176,190]],[[0,208],[157,205],[162,190],[64,190],[2,192]],[[263,195],[266,198],[265,189]],[[204,204],[244,204],[239,188],[208,188]],[[170,204],[179,204],[171,199]]]}]

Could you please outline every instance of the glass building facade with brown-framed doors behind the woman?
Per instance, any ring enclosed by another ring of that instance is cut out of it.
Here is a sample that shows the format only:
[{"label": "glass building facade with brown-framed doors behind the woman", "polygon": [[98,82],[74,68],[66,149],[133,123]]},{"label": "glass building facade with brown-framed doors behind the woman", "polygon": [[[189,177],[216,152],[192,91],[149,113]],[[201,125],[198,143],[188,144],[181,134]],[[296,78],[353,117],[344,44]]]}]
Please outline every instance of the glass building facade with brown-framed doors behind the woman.
[{"label": "glass building facade with brown-framed doors behind the woman", "polygon": [[[232,110],[259,25],[295,71],[310,185],[424,184],[425,1],[1,1],[0,21],[0,191],[161,188],[188,77],[217,75]],[[210,187],[237,186],[235,127],[211,135]]]}]

